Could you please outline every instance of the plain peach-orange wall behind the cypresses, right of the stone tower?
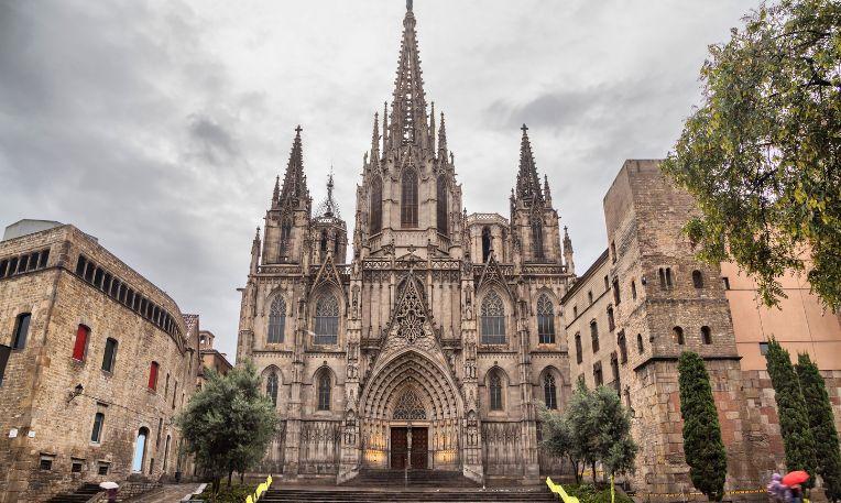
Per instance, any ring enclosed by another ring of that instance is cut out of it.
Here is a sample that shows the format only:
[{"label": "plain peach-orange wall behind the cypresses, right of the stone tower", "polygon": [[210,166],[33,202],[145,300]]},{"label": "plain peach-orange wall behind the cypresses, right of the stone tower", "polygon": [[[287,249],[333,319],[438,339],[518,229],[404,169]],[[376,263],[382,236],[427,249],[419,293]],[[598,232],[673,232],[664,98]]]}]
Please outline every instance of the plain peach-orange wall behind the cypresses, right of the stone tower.
[{"label": "plain peach-orange wall behind the cypresses, right of the stone tower", "polygon": [[780,299],[779,307],[764,306],[756,283],[735,264],[722,263],[721,275],[730,282],[725,294],[743,370],[765,370],[760,342],[772,337],[795,360],[798,352],[809,352],[821,370],[841,370],[841,319],[823,310],[805,275],[787,274],[782,278],[788,298]]}]

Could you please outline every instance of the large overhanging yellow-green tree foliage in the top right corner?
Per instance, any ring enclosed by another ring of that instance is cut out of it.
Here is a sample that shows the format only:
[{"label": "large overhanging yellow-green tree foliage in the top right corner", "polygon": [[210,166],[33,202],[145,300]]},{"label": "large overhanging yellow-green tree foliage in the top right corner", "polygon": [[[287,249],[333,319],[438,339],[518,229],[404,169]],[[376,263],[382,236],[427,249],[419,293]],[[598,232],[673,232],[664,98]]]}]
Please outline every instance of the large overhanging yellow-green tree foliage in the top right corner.
[{"label": "large overhanging yellow-green tree foliage in the top right corner", "polygon": [[703,105],[685,124],[665,173],[691,193],[686,227],[711,263],[735,261],[768,305],[778,277],[808,270],[841,307],[841,3],[763,4],[710,46]]}]

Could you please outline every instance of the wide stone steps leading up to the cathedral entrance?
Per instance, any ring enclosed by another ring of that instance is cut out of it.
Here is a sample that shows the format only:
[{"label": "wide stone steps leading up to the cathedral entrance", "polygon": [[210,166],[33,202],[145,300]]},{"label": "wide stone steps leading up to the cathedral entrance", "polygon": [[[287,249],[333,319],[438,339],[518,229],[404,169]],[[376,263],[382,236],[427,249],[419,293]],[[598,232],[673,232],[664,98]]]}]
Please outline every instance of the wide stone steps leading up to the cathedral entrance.
[{"label": "wide stone steps leading up to the cathedral entrance", "polygon": [[260,500],[269,502],[367,503],[367,502],[553,502],[547,488],[493,488],[483,490],[459,472],[409,470],[363,471],[341,486],[273,484]]}]

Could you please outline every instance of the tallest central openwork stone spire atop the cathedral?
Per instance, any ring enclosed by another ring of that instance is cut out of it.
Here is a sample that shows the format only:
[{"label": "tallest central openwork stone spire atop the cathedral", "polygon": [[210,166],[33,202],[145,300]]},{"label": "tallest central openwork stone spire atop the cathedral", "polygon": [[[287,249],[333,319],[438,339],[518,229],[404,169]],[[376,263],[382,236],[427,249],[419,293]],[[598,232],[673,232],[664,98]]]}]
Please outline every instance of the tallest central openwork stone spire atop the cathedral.
[{"label": "tallest central openwork stone spire atop the cathedral", "polygon": [[417,51],[415,14],[412,2],[406,2],[403,18],[403,40],[397,59],[397,76],[394,80],[394,102],[391,116],[391,145],[428,146],[426,123],[426,98],[420,73],[420,57]]}]

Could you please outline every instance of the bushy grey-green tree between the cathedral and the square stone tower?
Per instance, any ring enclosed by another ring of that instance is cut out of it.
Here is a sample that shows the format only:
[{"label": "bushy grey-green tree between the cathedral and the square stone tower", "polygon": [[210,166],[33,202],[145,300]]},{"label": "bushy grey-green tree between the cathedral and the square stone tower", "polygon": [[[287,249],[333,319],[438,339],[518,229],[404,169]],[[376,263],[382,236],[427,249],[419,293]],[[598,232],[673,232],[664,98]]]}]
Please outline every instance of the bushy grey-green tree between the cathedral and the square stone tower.
[{"label": "bushy grey-green tree between the cathedral and the square stone tower", "polygon": [[565,412],[540,412],[542,448],[572,463],[576,481],[585,468],[602,463],[610,474],[633,470],[637,446],[631,438],[631,415],[615,391],[605,386],[590,391],[579,381]]}]

